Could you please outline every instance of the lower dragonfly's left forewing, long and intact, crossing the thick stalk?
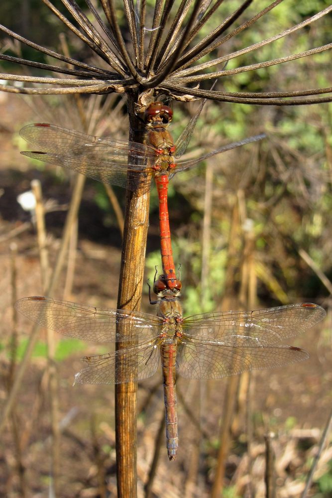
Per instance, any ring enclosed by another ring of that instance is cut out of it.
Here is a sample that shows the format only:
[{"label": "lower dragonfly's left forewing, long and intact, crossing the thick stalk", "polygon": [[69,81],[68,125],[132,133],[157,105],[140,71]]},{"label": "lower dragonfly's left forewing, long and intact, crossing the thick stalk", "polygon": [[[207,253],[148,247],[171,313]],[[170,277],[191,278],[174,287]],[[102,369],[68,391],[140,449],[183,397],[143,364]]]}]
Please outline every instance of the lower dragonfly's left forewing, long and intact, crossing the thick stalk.
[{"label": "lower dragonfly's left forewing, long and intact, crossing the thick stalk", "polygon": [[[60,334],[93,342],[129,341],[116,329],[130,328],[140,341],[159,336],[162,320],[154,315],[127,310],[101,310],[92,306],[58,301],[49,297],[24,297],[15,308],[30,320]],[[132,339],[131,339],[132,340]]]}]

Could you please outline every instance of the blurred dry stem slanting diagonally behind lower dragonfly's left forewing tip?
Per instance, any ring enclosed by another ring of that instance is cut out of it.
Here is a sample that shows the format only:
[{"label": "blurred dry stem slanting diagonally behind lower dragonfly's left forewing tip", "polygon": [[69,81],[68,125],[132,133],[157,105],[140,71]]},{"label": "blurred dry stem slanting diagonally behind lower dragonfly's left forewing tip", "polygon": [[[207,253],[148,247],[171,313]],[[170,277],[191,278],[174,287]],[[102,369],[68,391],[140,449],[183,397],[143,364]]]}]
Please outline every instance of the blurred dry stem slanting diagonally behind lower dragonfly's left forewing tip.
[{"label": "blurred dry stem slanting diagonally behind lower dragonfly's left forewing tip", "polygon": [[[55,269],[54,269],[54,272],[52,273],[50,283],[49,283],[49,286],[47,288],[47,295],[50,297],[52,296],[54,289],[55,289],[55,286],[58,283],[60,272],[61,272],[61,269],[62,269],[63,264],[65,262],[66,250],[67,250],[68,243],[69,243],[71,228],[72,228],[72,224],[74,223],[74,221],[77,218],[77,213],[78,213],[78,209],[79,209],[81,198],[82,198],[84,182],[85,182],[85,177],[83,175],[78,175],[77,181],[75,183],[75,187],[73,190],[73,194],[72,194],[72,199],[71,199],[69,211],[67,214],[65,227],[63,230],[63,237],[61,239],[61,247],[60,247],[59,252],[57,254]],[[10,414],[12,407],[14,405],[18,390],[21,386],[23,375],[24,375],[25,370],[28,366],[31,353],[32,353],[33,348],[35,346],[35,343],[37,341],[38,333],[39,333],[39,327],[36,325],[35,327],[33,327],[32,331],[31,331],[29,341],[28,341],[26,349],[24,351],[24,356],[23,356],[22,361],[19,365],[19,368],[17,369],[17,373],[15,376],[10,394],[8,396],[8,399],[4,405],[4,408],[3,408],[2,413],[1,413],[0,434],[5,427],[5,422],[7,420],[7,417]]]}]

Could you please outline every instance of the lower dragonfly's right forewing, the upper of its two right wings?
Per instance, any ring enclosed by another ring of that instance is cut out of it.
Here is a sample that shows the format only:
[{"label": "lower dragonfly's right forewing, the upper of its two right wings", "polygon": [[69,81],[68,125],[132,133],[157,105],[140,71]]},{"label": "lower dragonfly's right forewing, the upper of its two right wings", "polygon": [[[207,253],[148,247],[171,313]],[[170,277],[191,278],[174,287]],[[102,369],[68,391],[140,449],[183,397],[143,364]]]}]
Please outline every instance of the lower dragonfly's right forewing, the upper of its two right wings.
[{"label": "lower dragonfly's right forewing, the upper of its two right wings", "polygon": [[187,317],[185,335],[203,341],[227,341],[237,345],[239,338],[254,338],[260,346],[273,346],[295,337],[323,320],[325,310],[312,303],[288,304],[255,311],[225,311]]}]

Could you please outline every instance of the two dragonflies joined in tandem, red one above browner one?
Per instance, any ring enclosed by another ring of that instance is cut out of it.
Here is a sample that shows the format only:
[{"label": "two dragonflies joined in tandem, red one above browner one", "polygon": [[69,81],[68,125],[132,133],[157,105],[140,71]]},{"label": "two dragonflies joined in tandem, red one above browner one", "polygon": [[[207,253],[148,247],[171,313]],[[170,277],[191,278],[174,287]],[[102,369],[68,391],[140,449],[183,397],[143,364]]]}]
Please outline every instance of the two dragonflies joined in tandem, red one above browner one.
[{"label": "two dragonflies joined in tandem, red one above browner one", "polygon": [[[31,124],[21,135],[37,149],[24,155],[73,169],[97,180],[124,186],[127,173],[145,174],[146,188],[154,176],[159,194],[163,275],[154,281],[156,316],[128,310],[102,310],[47,297],[27,297],[16,303],[23,315],[61,334],[98,343],[120,344],[106,355],[86,357],[88,364],[75,376],[79,383],[121,383],[153,375],[162,366],[166,438],[170,460],[178,448],[176,372],[196,379],[221,378],[254,369],[283,367],[303,361],[308,353],[280,345],[320,322],[325,311],[312,303],[291,304],[250,312],[228,311],[183,318],[169,230],[168,180],[174,173],[233,147],[259,140],[262,135],[221,147],[198,159],[176,162],[187,148],[199,113],[174,143],[166,129],[172,111],[162,103],[145,112],[148,143],[123,142],[78,133],[51,124]],[[135,160],[128,162],[128,156]],[[137,160],[138,159],[138,160]],[[142,164],[137,165],[135,162]],[[140,177],[141,181],[141,177]],[[144,190],[144,189],[143,189]],[[122,334],[125,330],[126,334]],[[128,331],[129,334],[128,334]]]}]

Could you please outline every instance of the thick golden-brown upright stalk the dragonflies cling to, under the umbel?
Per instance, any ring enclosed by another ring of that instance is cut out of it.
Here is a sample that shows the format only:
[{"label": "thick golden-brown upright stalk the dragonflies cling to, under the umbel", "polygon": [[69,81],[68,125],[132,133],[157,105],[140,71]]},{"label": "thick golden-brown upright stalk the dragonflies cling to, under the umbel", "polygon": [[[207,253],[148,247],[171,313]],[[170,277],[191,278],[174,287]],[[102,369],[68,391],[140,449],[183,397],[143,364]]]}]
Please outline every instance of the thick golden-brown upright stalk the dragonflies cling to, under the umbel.
[{"label": "thick golden-brown upright stalk the dragonflies cling to, under the umbel", "polygon": [[[128,114],[130,122],[129,140],[142,143],[144,129],[134,114],[134,98],[128,96]],[[129,162],[135,160],[128,158]],[[130,181],[130,179],[128,179]],[[145,189],[146,190],[146,189]],[[127,190],[124,216],[121,269],[117,307],[138,311],[140,308],[143,273],[145,261],[146,237],[148,228],[149,193],[144,193],[138,184],[137,190]],[[132,337],[134,331],[119,324],[119,332]],[[128,347],[128,343],[125,343]],[[124,347],[118,343],[117,348]],[[125,364],[116,365],[125,370]],[[133,373],[133,379],[135,374]],[[115,427],[116,427],[116,473],[118,498],[135,498],[136,490],[136,402],[137,383],[119,383],[115,385]]]}]

